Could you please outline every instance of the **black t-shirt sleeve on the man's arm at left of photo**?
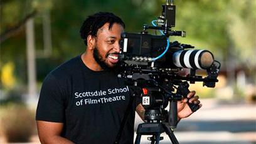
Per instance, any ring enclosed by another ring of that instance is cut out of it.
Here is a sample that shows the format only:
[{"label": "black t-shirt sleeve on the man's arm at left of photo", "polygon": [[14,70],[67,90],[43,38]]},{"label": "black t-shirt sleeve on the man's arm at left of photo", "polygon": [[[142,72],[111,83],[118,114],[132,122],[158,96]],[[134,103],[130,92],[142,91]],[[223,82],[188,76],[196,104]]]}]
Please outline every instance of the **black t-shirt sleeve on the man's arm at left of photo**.
[{"label": "black t-shirt sleeve on the man's arm at left of photo", "polygon": [[46,76],[40,91],[36,120],[63,123],[65,119],[63,97],[63,92],[55,76],[51,74]]}]

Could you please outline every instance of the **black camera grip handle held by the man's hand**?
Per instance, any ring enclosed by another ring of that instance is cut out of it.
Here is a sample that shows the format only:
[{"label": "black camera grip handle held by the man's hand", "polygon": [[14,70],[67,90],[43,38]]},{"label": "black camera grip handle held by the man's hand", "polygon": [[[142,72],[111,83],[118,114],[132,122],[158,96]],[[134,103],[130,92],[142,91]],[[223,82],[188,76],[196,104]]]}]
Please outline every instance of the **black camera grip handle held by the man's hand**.
[{"label": "black camera grip handle held by the man's hand", "polygon": [[[188,90],[188,87],[189,87],[189,84],[187,81],[181,82],[181,84],[177,88],[177,93],[187,98],[188,93],[190,93],[190,91]],[[198,110],[199,105],[194,103],[189,103],[189,100],[190,98],[188,98],[187,103],[191,111],[195,112],[196,110]]]}]

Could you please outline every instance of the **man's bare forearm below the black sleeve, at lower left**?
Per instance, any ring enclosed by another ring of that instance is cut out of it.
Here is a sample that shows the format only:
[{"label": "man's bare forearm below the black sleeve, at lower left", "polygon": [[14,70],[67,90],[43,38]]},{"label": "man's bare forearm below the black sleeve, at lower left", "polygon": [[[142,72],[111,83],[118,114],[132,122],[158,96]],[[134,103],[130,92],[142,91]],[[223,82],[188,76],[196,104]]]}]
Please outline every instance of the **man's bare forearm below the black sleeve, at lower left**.
[{"label": "man's bare forearm below the black sleeve, at lower left", "polygon": [[41,143],[61,143],[70,144],[72,141],[61,137],[63,123],[55,123],[49,121],[36,121],[38,127],[38,135]]}]

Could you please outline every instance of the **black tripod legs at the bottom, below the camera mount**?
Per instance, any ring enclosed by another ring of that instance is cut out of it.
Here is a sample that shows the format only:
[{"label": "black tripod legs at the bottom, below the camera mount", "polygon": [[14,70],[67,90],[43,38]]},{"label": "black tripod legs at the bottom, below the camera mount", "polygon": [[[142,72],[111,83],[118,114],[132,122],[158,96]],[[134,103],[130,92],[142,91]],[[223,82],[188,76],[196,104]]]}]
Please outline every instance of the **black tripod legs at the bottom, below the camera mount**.
[{"label": "black tripod legs at the bottom, below the camera mount", "polygon": [[163,137],[160,136],[161,133],[166,132],[169,136],[171,142],[173,144],[178,144],[178,140],[176,139],[173,130],[166,126],[164,123],[141,123],[137,128],[137,136],[135,144],[139,144],[141,142],[141,135],[152,135],[147,140],[151,141],[151,144],[158,144],[160,140],[163,140]]}]

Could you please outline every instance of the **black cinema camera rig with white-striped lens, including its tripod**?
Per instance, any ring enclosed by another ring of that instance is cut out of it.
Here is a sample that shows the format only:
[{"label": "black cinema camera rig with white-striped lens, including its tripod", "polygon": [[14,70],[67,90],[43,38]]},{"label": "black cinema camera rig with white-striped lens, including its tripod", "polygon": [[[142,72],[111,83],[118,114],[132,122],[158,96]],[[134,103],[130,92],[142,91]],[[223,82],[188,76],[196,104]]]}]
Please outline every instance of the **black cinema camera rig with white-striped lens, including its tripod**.
[{"label": "black cinema camera rig with white-striped lens, including its tripod", "polygon": [[[144,25],[141,33],[123,33],[120,44],[124,63],[120,66],[119,77],[141,89],[142,105],[146,110],[146,123],[138,126],[135,143],[140,143],[141,135],[152,135],[148,140],[159,143],[163,132],[172,143],[178,143],[172,128],[178,123],[177,101],[189,93],[188,82],[202,81],[203,86],[211,88],[218,82],[220,63],[210,51],[191,49],[194,46],[178,41],[169,42],[169,36],[185,37],[186,33],[172,30],[176,15],[173,1],[166,1],[162,7],[161,16],[152,21],[152,26]],[[161,35],[149,34],[147,29],[159,31]],[[190,69],[189,76],[179,75],[184,68]],[[197,69],[206,71],[207,76],[196,75]],[[165,110],[168,104],[169,111]],[[192,103],[188,105],[192,111],[199,108]]]}]

